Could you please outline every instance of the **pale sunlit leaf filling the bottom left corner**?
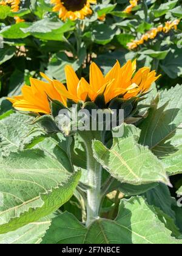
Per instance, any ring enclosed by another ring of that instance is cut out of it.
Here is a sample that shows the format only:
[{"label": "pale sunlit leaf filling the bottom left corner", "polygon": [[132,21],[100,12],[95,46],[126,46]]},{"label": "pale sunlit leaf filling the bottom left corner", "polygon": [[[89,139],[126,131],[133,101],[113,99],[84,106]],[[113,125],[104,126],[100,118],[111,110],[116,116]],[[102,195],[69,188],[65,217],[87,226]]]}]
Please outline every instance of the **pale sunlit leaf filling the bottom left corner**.
[{"label": "pale sunlit leaf filling the bottom left corner", "polygon": [[0,235],[0,244],[39,244],[51,224],[51,220],[30,223],[20,229]]}]

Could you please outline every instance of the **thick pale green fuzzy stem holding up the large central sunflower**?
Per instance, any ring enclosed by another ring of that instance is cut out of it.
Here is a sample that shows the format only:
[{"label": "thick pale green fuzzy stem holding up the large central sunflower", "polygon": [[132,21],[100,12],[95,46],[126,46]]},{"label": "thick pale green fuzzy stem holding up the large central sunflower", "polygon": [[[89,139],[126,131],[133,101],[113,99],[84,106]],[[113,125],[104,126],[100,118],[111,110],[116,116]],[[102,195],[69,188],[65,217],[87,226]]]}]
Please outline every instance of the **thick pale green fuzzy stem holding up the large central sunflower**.
[{"label": "thick pale green fuzzy stem holding up the large central sunflower", "polygon": [[101,140],[99,132],[80,132],[84,140],[87,151],[87,177],[90,188],[87,190],[87,221],[88,227],[95,219],[99,218],[99,209],[101,205],[101,176],[102,167],[93,157],[92,141]]}]

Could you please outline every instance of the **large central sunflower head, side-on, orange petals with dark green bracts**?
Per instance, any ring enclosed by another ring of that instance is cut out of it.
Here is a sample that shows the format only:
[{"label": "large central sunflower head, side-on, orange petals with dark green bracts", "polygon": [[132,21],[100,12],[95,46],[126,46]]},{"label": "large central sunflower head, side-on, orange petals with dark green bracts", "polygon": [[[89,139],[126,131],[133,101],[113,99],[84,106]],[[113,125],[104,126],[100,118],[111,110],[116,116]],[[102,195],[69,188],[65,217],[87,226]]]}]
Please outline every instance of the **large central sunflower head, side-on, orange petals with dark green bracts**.
[{"label": "large central sunflower head, side-on, orange petals with dark green bracts", "polygon": [[[77,110],[124,110],[124,118],[135,115],[137,105],[149,91],[150,86],[159,76],[150,68],[144,67],[136,71],[136,60],[129,60],[124,66],[117,61],[106,76],[93,62],[90,65],[90,79],[78,78],[72,66],[65,67],[66,84],[50,79],[30,79],[30,87],[24,85],[21,96],[8,98],[13,107],[19,111],[34,113],[40,121],[47,124],[56,120],[60,110],[72,112],[73,105]],[[55,119],[54,119],[55,118]],[[56,123],[51,124],[55,132]],[[51,130],[49,128],[49,130]]]}]

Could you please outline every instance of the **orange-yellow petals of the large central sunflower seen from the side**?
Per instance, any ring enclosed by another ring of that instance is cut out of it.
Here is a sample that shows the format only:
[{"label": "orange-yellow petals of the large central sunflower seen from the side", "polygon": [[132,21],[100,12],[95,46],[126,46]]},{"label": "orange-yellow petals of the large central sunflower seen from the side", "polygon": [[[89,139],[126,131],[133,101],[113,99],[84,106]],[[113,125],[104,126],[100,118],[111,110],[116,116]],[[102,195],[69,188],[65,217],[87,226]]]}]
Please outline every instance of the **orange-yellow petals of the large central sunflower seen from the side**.
[{"label": "orange-yellow petals of the large central sunflower seen from the side", "polygon": [[124,66],[120,66],[117,61],[106,76],[93,62],[90,65],[90,81],[87,82],[83,77],[79,80],[72,66],[65,67],[67,87],[58,80],[47,79],[42,82],[37,79],[30,79],[31,87],[25,85],[22,88],[21,96],[8,98],[17,110],[50,113],[49,99],[56,99],[67,106],[67,99],[75,103],[79,101],[94,102],[97,96],[103,94],[106,104],[113,98],[120,97],[130,99],[142,93],[146,93],[151,84],[160,76],[156,72],[150,72],[150,68],[144,67],[136,72],[136,60],[129,60]]}]

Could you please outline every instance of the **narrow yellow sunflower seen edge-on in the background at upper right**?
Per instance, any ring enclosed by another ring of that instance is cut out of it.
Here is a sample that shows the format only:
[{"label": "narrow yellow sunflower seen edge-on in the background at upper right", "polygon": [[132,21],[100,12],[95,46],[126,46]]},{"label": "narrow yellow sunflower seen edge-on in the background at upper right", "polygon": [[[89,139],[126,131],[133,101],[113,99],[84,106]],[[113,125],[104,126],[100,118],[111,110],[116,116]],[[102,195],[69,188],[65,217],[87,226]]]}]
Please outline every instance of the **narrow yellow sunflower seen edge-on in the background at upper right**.
[{"label": "narrow yellow sunflower seen edge-on in the background at upper right", "polygon": [[150,29],[146,34],[142,35],[140,40],[133,40],[130,43],[127,44],[127,47],[132,50],[138,47],[138,45],[143,44],[145,41],[148,41],[149,39],[154,39],[157,37],[158,33],[164,32],[168,33],[171,29],[177,30],[177,26],[180,23],[180,20],[174,20],[174,21],[167,21],[165,23],[165,26],[162,24],[158,27],[153,27],[153,29]]}]

